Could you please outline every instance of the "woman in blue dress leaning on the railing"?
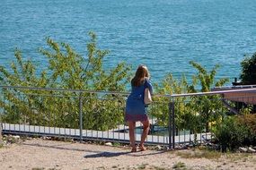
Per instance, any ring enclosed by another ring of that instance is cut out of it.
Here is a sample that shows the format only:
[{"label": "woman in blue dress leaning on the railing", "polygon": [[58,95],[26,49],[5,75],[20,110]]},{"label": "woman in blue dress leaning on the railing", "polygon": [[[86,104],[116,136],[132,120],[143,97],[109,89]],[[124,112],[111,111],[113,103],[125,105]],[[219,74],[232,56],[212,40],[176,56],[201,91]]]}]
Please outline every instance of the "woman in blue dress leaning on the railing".
[{"label": "woman in blue dress leaning on the railing", "polygon": [[149,72],[146,65],[139,65],[134,78],[131,80],[131,93],[128,96],[125,121],[128,122],[129,127],[129,140],[132,147],[131,151],[136,152],[137,147],[135,145],[135,127],[136,122],[139,121],[143,124],[143,133],[138,149],[145,150],[144,142],[146,140],[147,133],[149,131],[149,120],[146,115],[146,105],[144,103],[144,91],[149,89],[153,94],[153,87],[149,81]]}]

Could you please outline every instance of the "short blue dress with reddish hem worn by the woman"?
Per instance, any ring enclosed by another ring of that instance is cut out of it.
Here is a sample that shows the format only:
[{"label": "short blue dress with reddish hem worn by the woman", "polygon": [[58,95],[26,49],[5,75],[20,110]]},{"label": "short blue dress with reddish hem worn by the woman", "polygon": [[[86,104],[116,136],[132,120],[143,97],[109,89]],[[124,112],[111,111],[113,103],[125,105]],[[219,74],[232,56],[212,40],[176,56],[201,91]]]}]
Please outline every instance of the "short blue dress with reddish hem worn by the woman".
[{"label": "short blue dress with reddish hem worn by the woman", "polygon": [[125,111],[125,121],[146,121],[146,105],[144,103],[144,91],[148,88],[151,95],[153,94],[153,87],[150,81],[144,81],[140,86],[133,87],[131,93],[128,96],[126,111]]}]

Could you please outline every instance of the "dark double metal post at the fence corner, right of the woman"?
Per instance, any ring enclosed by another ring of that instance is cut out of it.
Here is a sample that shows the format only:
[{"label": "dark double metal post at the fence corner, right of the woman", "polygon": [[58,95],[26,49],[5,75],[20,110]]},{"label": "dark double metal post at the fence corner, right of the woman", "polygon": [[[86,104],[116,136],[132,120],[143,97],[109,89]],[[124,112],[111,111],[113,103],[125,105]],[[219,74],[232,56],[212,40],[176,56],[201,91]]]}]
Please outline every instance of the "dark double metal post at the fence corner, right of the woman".
[{"label": "dark double metal post at the fence corner, right of the woman", "polygon": [[174,102],[169,103],[169,149],[175,148],[175,117],[174,117]]}]

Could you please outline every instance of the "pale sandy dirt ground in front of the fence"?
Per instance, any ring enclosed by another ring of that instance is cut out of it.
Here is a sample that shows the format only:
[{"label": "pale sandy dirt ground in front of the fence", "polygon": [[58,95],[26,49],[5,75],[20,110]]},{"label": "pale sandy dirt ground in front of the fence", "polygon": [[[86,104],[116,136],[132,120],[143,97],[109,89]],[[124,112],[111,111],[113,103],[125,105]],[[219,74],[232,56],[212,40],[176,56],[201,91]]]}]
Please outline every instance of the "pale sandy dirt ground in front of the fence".
[{"label": "pale sandy dirt ground in front of the fence", "polygon": [[124,146],[32,139],[0,148],[0,169],[256,169],[256,154],[215,154],[206,158],[197,149],[131,153]]}]

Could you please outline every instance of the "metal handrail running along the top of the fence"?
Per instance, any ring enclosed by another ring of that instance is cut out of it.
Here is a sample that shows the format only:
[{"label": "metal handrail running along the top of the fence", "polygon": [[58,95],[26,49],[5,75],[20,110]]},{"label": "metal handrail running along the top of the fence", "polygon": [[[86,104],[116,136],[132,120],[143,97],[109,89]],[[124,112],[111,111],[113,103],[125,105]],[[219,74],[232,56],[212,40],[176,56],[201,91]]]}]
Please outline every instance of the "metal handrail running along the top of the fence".
[{"label": "metal handrail running along the top of the fence", "polygon": [[[253,85],[254,86],[254,85]],[[69,91],[69,92],[88,92],[88,93],[103,93],[103,94],[113,94],[113,95],[128,95],[129,92],[119,92],[119,91],[103,91],[103,90],[88,90],[88,89],[58,89],[58,88],[38,88],[38,87],[24,87],[24,86],[4,86],[0,85],[0,88],[3,89],[43,89],[43,90],[58,90],[58,91]],[[226,89],[226,90],[217,90],[217,91],[209,91],[209,92],[198,92],[198,93],[183,93],[183,94],[154,94],[154,97],[165,97],[165,98],[175,98],[175,97],[190,97],[190,96],[203,96],[203,95],[217,95],[217,94],[225,94],[232,92],[254,92],[256,93],[256,88],[251,89]]]}]

